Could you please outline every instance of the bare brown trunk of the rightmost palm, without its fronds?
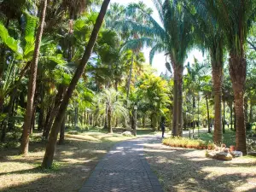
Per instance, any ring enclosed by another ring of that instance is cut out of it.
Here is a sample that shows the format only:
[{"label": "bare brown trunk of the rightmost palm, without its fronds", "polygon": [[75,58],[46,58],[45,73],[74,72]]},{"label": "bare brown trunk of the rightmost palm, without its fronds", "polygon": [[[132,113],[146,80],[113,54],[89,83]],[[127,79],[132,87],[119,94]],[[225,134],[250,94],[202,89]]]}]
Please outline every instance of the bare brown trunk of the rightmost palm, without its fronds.
[{"label": "bare brown trunk of the rightmost palm, without its fronds", "polygon": [[236,148],[247,154],[246,125],[244,114],[244,88],[247,61],[239,55],[230,54],[230,78],[235,96]]}]

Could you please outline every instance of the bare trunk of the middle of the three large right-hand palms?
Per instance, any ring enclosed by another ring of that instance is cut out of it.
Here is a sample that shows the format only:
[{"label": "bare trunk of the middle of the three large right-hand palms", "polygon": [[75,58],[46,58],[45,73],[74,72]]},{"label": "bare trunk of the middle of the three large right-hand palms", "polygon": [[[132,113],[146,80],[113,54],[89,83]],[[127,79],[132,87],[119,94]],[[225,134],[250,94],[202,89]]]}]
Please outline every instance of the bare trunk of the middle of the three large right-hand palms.
[{"label": "bare trunk of the middle of the three large right-hand palms", "polygon": [[222,143],[222,125],[221,125],[221,86],[223,80],[223,69],[221,64],[212,63],[212,81],[214,92],[214,135],[213,141],[216,144]]}]

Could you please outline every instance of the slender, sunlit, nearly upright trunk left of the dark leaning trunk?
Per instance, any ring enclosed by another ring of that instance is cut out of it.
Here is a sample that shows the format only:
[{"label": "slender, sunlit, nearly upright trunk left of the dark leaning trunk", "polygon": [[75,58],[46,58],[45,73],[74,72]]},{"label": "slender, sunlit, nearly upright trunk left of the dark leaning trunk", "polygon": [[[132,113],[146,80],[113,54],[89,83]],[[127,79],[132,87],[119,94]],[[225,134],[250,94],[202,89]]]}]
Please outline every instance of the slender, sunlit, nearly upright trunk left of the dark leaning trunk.
[{"label": "slender, sunlit, nearly upright trunk left of the dark leaning trunk", "polygon": [[31,76],[29,79],[28,91],[27,91],[26,115],[24,119],[23,131],[22,131],[22,139],[20,143],[21,154],[28,153],[29,129],[31,127],[32,108],[33,108],[34,95],[36,90],[36,80],[37,80],[37,74],[38,74],[38,57],[39,57],[39,51],[40,51],[41,38],[44,31],[44,19],[45,19],[46,8],[47,8],[47,0],[44,0],[42,1],[40,26],[38,27],[34,55],[31,63]]}]

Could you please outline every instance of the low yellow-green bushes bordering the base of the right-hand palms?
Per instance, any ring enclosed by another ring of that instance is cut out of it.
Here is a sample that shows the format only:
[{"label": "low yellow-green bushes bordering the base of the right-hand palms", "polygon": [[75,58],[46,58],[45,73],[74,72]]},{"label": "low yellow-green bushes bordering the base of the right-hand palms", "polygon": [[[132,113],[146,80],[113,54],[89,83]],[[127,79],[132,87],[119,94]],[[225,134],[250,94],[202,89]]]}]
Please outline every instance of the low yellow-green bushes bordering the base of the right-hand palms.
[{"label": "low yellow-green bushes bordering the base of the right-hand palms", "polygon": [[163,144],[176,148],[197,148],[209,150],[215,148],[212,142],[205,142],[201,139],[189,139],[185,137],[168,137],[163,139]]}]

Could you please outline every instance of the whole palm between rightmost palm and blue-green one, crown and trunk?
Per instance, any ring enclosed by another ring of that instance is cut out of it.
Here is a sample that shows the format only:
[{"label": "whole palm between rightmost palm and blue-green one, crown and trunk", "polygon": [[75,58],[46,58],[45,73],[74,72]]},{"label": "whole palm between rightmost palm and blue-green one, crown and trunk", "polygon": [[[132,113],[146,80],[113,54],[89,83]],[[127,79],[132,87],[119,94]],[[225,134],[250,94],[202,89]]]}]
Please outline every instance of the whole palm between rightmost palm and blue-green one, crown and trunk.
[{"label": "whole palm between rightmost palm and blue-green one, crown and trunk", "polygon": [[223,84],[224,67],[224,32],[216,25],[216,18],[211,14],[206,14],[197,1],[193,1],[196,14],[191,15],[195,18],[195,37],[202,49],[207,49],[211,57],[212,83],[214,93],[214,143],[222,143],[222,121],[221,121],[221,95]]}]

